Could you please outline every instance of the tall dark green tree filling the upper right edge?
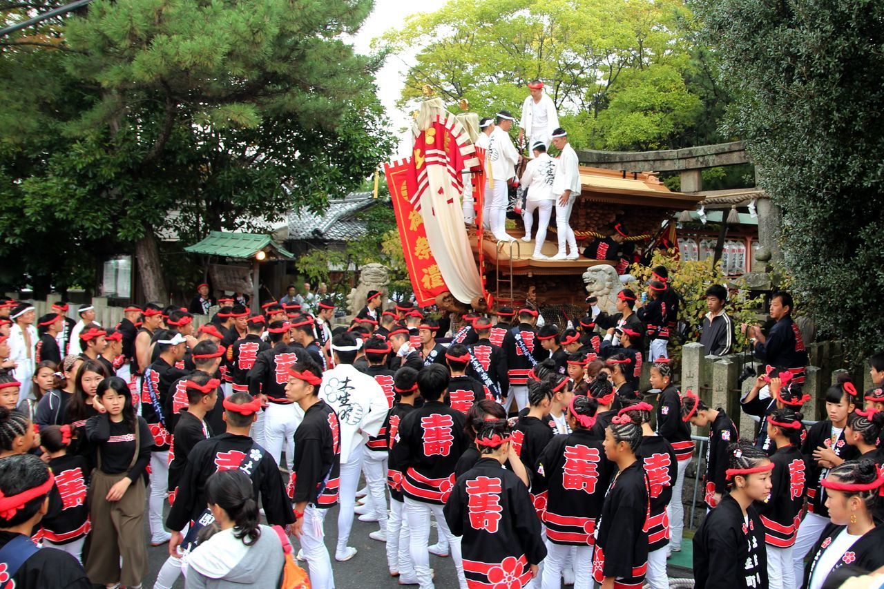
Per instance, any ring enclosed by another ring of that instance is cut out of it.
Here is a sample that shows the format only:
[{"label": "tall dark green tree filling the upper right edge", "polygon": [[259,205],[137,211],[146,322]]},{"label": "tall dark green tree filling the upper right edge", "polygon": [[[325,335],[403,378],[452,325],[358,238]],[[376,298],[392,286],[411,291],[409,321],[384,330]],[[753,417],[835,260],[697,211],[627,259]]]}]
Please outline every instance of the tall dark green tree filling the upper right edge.
[{"label": "tall dark green tree filling the upper right edge", "polygon": [[884,4],[695,0],[739,135],[781,207],[785,270],[850,360],[884,331]]}]

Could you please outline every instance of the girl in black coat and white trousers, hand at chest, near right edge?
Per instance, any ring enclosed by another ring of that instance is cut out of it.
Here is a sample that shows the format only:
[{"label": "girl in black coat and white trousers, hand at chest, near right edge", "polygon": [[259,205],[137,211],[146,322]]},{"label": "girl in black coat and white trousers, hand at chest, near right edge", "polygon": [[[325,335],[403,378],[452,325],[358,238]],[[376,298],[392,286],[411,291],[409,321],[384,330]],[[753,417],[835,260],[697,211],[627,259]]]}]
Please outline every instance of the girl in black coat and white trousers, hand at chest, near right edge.
[{"label": "girl in black coat and white trousers, hand at chest, near right edge", "polygon": [[795,547],[792,549],[792,567],[796,580],[804,575],[804,557],[819,539],[819,533],[829,524],[827,489],[820,486],[830,469],[845,460],[859,456],[857,447],[847,443],[844,428],[853,413],[857,389],[850,378],[841,376],[826,391],[828,419],[821,419],[807,431],[801,452],[807,457],[810,471],[807,474],[807,513],[801,520]]}]

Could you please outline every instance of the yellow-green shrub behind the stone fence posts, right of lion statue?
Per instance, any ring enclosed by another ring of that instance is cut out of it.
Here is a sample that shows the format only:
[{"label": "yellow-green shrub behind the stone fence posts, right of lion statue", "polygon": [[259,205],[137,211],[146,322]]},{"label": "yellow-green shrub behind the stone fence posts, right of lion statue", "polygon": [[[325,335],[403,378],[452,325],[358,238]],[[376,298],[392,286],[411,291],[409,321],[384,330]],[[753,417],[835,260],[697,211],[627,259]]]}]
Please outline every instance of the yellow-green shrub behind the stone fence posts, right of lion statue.
[{"label": "yellow-green shrub behind the stone fence posts, right of lion statue", "polygon": [[[673,251],[654,252],[651,265],[632,264],[629,271],[636,277],[638,284],[645,284],[651,279],[651,269],[654,266],[666,266],[669,271],[669,285],[675,292],[682,295],[682,304],[678,308],[678,319],[690,325],[688,341],[699,339],[699,326],[703,316],[709,311],[706,307],[706,288],[713,284],[727,285],[728,277],[721,272],[721,262],[713,266],[712,259],[702,262],[691,260],[685,261],[681,257],[675,258]],[[648,291],[650,299],[650,290]],[[728,315],[734,320],[734,325],[754,323],[756,311],[761,306],[761,297],[749,298],[749,292],[743,289],[731,292],[728,295]],[[739,330],[735,330],[736,341],[740,345],[746,344],[746,338]],[[682,345],[687,341],[672,340],[669,344],[670,356],[680,361],[682,357]]]}]

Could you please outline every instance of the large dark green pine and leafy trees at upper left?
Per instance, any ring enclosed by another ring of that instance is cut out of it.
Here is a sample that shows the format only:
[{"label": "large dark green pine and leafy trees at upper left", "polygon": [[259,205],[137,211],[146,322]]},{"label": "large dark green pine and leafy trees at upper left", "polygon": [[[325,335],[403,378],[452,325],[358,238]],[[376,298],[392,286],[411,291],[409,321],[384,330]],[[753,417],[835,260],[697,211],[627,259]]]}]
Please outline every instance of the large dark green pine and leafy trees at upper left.
[{"label": "large dark green pine and leafy trees at upper left", "polygon": [[4,40],[0,256],[23,256],[11,280],[64,282],[68,265],[154,232],[265,231],[358,186],[392,149],[380,62],[340,40],[371,5],[96,0]]}]

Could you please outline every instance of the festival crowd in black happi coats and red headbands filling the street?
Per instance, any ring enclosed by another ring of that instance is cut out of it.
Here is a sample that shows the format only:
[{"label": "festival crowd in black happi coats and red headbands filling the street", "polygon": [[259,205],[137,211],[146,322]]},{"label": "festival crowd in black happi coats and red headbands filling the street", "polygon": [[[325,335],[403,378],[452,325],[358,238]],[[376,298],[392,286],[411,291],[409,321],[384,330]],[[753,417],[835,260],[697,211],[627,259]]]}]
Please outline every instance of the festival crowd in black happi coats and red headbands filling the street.
[{"label": "festival crowd in black happi coats and red headbands filling the street", "polygon": [[[198,329],[153,303],[103,328],[88,305],[73,322],[61,303],[37,318],[4,300],[0,580],[270,587],[297,555],[331,589],[333,563],[359,557],[358,516],[377,522],[400,585],[434,586],[433,554],[463,588],[660,589],[682,549],[692,425],[709,431],[696,586],[819,589],[884,565],[884,355],[872,390],[839,380],[827,419],[805,427],[804,342],[791,297],[774,294],[773,326],[743,327],[766,370],[741,400],[757,435],[740,440],[674,382],[667,282],[656,267],[651,302],[626,288],[615,315],[561,328],[538,328],[532,307],[385,309],[377,291],[337,327],[330,300],[308,313],[291,294],[259,314],[222,298]],[[706,298],[703,338],[727,353],[727,291]],[[156,578],[145,519],[169,551]]]}]

